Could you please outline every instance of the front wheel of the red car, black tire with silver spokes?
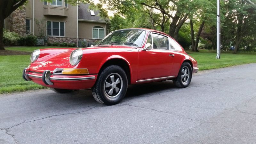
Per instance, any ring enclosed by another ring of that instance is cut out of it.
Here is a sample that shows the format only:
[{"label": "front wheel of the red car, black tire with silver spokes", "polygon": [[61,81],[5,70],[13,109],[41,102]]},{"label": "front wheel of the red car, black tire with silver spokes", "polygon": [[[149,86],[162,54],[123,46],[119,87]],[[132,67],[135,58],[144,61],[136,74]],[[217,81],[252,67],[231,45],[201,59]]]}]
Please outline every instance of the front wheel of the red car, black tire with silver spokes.
[{"label": "front wheel of the red car, black tire with silver spokes", "polygon": [[101,104],[114,105],[124,98],[127,85],[128,80],[124,69],[117,65],[111,65],[99,73],[97,81],[92,87],[92,95]]}]

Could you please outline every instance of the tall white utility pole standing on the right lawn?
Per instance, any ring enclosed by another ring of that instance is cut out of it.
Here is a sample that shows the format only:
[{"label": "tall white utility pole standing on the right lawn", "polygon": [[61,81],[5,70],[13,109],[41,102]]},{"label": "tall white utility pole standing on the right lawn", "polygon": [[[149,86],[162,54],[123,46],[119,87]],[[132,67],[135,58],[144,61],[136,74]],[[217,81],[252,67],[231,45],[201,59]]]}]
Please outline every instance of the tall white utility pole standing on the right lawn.
[{"label": "tall white utility pole standing on the right lawn", "polygon": [[217,56],[220,59],[220,0],[217,0]]}]

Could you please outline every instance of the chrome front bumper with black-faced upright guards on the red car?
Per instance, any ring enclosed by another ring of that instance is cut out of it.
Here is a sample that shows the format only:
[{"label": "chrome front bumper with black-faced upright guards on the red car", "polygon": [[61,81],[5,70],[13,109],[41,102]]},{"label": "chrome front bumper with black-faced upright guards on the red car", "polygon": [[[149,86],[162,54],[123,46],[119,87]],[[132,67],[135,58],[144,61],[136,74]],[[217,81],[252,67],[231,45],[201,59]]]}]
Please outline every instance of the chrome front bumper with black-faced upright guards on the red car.
[{"label": "chrome front bumper with black-faced upright guards on the red car", "polygon": [[80,77],[52,76],[50,70],[45,70],[43,72],[43,75],[34,75],[34,74],[29,73],[29,69],[28,68],[24,68],[22,77],[26,81],[30,81],[31,80],[31,78],[29,78],[29,77],[41,78],[42,81],[44,82],[44,84],[46,84],[46,85],[53,85],[51,80],[57,80],[57,81],[82,81],[82,80],[91,80],[91,79],[95,79],[96,78],[95,76],[80,76]]}]

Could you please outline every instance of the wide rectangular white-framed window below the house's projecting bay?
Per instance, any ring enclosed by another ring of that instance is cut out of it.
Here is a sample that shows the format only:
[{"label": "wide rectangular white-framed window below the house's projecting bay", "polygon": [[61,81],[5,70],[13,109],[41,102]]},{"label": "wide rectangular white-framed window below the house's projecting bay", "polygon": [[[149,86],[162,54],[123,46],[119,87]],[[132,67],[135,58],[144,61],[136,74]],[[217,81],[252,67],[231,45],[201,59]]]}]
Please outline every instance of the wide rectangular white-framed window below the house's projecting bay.
[{"label": "wide rectangular white-framed window below the house's projecting bay", "polygon": [[47,21],[47,36],[65,36],[65,23]]}]

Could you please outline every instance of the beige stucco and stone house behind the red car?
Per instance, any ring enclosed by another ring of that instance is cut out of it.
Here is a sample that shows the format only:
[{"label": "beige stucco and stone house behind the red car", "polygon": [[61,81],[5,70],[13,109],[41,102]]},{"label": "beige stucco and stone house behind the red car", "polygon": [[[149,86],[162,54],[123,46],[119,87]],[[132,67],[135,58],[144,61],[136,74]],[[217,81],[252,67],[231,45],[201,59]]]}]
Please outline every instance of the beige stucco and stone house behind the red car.
[{"label": "beige stucco and stone house behind the red car", "polygon": [[99,11],[90,10],[89,6],[73,6],[65,0],[53,0],[51,3],[28,0],[23,8],[4,20],[4,28],[21,35],[28,32],[41,35],[47,42],[80,44],[86,41],[86,46],[89,46],[109,33],[109,20],[100,18]]}]

